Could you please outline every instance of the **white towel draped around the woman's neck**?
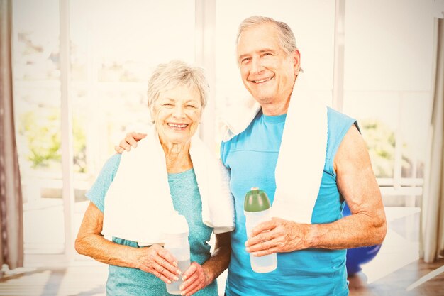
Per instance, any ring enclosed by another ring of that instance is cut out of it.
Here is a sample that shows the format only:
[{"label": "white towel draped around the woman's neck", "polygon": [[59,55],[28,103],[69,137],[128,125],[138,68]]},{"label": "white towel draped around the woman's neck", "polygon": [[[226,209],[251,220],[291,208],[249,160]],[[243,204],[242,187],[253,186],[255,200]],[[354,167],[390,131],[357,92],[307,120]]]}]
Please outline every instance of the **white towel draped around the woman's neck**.
[{"label": "white towel draped around the woman's neck", "polygon": [[[215,234],[234,229],[233,197],[226,169],[198,136],[189,151],[201,195],[202,221]],[[152,126],[131,152],[123,152],[105,197],[103,234],[137,241],[140,246],[163,243],[163,231],[174,214],[165,153]]]}]

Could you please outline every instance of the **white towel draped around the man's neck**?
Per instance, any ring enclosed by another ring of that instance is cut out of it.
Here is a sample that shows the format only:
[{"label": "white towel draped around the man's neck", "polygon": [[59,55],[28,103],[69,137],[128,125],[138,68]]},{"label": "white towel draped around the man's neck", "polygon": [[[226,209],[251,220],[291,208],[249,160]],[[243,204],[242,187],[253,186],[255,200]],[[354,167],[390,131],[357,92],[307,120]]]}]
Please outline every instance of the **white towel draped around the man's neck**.
[{"label": "white towel draped around the man's neck", "polygon": [[[301,76],[301,75],[299,75]],[[223,141],[245,128],[260,110],[259,104],[243,102],[223,122]],[[243,113],[244,116],[236,114]],[[327,148],[327,107],[304,87],[301,77],[294,85],[285,120],[274,176],[276,192],[272,216],[311,224],[313,207],[321,186]],[[251,186],[255,186],[251,184]]]}]

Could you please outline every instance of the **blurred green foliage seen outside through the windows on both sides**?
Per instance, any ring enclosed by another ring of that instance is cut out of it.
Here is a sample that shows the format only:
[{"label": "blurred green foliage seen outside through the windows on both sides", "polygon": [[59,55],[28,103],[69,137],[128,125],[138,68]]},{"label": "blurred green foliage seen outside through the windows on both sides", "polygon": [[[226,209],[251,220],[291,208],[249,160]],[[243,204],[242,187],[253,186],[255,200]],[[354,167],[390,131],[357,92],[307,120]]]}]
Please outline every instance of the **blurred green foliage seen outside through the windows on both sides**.
[{"label": "blurred green foliage seen outside through the windows on both sides", "polygon": [[[39,116],[38,116],[39,115]],[[19,133],[28,144],[27,160],[32,168],[51,168],[62,158],[60,142],[60,110],[53,109],[45,116],[28,111],[21,116]],[[360,121],[362,136],[367,143],[374,174],[377,177],[393,177],[395,135],[382,121]],[[73,119],[74,172],[86,172],[86,137],[79,120]],[[405,145],[404,145],[405,146]],[[404,151],[404,150],[403,150]],[[402,155],[403,170],[411,168],[408,155]]]}]

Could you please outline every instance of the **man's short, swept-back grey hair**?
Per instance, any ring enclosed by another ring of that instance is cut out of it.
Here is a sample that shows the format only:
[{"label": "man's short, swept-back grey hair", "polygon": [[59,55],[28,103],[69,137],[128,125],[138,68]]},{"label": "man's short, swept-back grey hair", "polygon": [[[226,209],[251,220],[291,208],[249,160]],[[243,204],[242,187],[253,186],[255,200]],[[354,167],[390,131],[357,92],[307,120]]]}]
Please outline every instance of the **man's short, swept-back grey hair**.
[{"label": "man's short, swept-back grey hair", "polygon": [[272,23],[274,26],[276,26],[278,31],[277,40],[282,50],[288,54],[291,54],[297,49],[296,38],[294,38],[292,28],[290,28],[287,23],[276,21],[273,18],[268,18],[267,16],[250,16],[249,18],[245,18],[245,20],[243,20],[239,25],[238,37],[236,38],[236,59],[238,55],[238,42],[240,34],[248,28],[259,26],[264,23]]}]

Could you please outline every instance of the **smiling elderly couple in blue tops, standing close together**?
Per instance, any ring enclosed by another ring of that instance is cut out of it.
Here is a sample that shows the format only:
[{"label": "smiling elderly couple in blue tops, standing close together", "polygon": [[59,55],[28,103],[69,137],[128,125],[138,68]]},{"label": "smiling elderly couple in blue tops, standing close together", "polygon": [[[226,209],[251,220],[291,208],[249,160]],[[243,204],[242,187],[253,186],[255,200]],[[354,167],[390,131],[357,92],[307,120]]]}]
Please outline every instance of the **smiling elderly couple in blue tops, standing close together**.
[{"label": "smiling elderly couple in blue tops, standing close together", "polygon": [[[384,207],[357,122],[300,89],[291,28],[246,18],[236,57],[254,104],[226,122],[221,160],[195,135],[209,90],[204,72],[172,61],[148,82],[153,126],[128,133],[87,193],[76,249],[109,264],[107,295],[169,295],[165,283],[181,277],[182,295],[216,296],[226,268],[228,296],[348,295],[346,249],[383,241]],[[247,234],[251,187],[267,192],[274,217]],[[345,202],[351,215],[342,217]],[[189,224],[187,270],[162,247],[174,211]],[[250,253],[277,253],[277,269],[255,273]]]}]

